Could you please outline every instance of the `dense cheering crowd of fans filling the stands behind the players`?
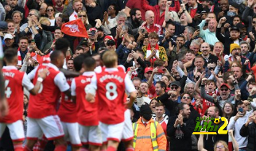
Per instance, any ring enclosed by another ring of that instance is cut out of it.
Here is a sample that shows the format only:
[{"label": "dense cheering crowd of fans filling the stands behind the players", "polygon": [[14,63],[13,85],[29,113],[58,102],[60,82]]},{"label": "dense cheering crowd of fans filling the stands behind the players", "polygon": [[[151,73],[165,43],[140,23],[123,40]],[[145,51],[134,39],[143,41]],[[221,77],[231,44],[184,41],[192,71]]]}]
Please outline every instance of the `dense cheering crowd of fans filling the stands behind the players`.
[{"label": "dense cheering crowd of fans filling the stands behind the players", "polygon": [[[88,36],[64,33],[75,20]],[[100,66],[103,52],[116,52],[138,92],[132,122],[149,105],[170,151],[256,150],[254,35],[254,0],[0,0],[3,52],[17,49],[20,71],[37,68],[60,38],[69,41],[63,67],[69,71],[83,53]],[[25,93],[24,123],[28,104]],[[228,134],[192,134],[198,118],[220,117],[228,120]],[[1,148],[12,150],[6,140]]]}]

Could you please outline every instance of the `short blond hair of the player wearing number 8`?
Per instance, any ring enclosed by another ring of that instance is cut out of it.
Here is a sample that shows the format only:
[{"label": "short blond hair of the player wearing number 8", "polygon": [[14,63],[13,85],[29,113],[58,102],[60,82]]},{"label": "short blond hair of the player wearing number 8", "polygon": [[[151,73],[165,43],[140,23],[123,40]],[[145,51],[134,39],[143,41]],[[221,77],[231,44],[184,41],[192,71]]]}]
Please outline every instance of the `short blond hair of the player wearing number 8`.
[{"label": "short blond hair of the player wearing number 8", "polygon": [[118,61],[118,55],[114,51],[107,51],[103,54],[103,64],[107,68],[113,68]]}]

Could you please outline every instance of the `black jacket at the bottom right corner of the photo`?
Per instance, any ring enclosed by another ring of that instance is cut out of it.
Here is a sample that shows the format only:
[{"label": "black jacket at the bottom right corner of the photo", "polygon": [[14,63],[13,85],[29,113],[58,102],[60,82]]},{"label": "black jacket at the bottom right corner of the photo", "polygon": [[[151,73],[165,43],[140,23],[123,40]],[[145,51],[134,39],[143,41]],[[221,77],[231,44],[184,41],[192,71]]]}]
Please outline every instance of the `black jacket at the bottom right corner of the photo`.
[{"label": "black jacket at the bottom right corner of the photo", "polygon": [[245,124],[240,129],[240,135],[242,137],[248,137],[248,144],[246,146],[246,151],[256,150],[256,124],[253,122],[248,126]]}]

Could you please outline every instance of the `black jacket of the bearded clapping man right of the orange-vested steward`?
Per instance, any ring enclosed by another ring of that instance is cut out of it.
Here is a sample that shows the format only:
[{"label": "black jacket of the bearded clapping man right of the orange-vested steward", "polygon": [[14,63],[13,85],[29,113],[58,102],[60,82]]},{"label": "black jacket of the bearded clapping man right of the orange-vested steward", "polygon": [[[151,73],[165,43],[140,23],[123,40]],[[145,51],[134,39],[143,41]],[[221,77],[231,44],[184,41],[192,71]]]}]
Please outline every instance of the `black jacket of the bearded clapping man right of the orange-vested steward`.
[{"label": "black jacket of the bearded clapping man right of the orange-vested steward", "polygon": [[170,150],[171,151],[191,151],[192,150],[192,138],[191,135],[195,129],[195,124],[191,118],[184,118],[184,125],[180,126],[180,130],[184,134],[183,137],[178,139],[176,137],[176,130],[174,123],[177,116],[169,118],[167,126],[167,135],[170,137]]}]

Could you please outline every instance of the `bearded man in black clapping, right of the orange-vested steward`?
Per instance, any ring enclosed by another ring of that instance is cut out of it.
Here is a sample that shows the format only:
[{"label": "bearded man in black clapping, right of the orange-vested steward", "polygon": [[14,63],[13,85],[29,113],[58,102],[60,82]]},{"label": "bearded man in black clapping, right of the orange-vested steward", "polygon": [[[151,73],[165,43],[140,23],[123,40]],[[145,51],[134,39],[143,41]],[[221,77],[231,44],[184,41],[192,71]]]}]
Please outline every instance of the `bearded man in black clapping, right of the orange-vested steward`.
[{"label": "bearded man in black clapping, right of the orange-vested steward", "polygon": [[188,104],[180,103],[177,106],[176,116],[169,118],[167,134],[170,137],[170,150],[190,151],[192,150],[192,132],[195,124],[189,118],[191,111]]}]

